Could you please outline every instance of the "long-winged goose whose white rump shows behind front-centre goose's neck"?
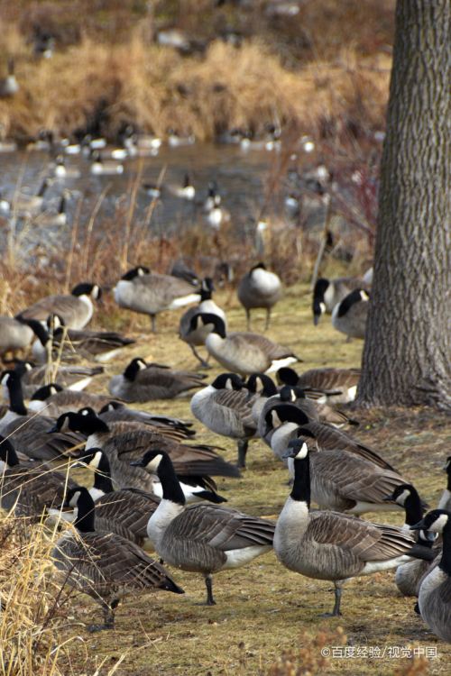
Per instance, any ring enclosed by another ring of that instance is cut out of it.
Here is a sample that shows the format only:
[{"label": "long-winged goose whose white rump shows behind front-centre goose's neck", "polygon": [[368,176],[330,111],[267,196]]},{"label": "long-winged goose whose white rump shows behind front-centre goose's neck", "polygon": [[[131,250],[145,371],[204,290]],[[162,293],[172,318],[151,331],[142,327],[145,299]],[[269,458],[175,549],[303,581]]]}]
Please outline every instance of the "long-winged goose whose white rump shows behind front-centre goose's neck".
[{"label": "long-winged goose whose white rump shows behind front-centre goose's neck", "polygon": [[216,484],[209,475],[239,477],[239,470],[226,462],[210,446],[186,445],[158,434],[135,423],[106,425],[92,410],[83,413],[66,413],[51,428],[52,432],[78,431],[87,436],[86,449],[101,448],[111,465],[111,475],[120,488],[133,488],[157,492],[158,483],[149,473],[132,469],[129,461],[143,455],[148,449],[160,448],[170,453],[183,490],[190,501],[208,499],[224,502],[216,494]]}]

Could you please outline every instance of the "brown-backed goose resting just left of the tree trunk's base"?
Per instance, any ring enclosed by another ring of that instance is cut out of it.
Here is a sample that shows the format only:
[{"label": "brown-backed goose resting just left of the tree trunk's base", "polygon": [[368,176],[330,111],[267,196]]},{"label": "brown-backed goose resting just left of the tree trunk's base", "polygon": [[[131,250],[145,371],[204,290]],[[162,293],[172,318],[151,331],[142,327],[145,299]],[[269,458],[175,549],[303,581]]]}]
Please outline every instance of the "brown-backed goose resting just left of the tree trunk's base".
[{"label": "brown-backed goose resting just left of the tree trunk's base", "polygon": [[277,372],[277,378],[285,385],[318,389],[324,392],[331,404],[354,401],[360,375],[360,369],[310,369],[300,375],[290,368]]}]

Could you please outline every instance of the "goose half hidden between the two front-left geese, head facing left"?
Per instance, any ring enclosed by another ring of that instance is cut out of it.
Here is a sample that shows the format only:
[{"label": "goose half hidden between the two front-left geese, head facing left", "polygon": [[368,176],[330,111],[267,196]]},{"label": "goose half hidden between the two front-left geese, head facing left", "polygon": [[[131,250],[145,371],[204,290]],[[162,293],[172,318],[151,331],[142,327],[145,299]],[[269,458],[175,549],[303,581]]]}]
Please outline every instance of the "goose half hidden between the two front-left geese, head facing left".
[{"label": "goose half hidden between the two front-left geese, head facing left", "polygon": [[98,530],[122,535],[143,549],[153,551],[147,537],[147,522],[158,507],[160,498],[140,489],[115,490],[110,463],[99,448],[90,448],[82,453],[72,467],[78,465],[94,470],[94,484],[88,491],[95,503]]}]

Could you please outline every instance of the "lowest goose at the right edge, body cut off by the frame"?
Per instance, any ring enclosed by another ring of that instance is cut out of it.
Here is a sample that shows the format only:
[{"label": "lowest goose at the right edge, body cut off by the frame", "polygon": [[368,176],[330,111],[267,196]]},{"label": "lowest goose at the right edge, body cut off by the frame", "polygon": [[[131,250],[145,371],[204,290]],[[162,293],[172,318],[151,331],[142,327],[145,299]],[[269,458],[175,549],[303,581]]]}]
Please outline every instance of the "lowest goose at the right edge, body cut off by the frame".
[{"label": "lowest goose at the right edge, body cut off by the frame", "polygon": [[442,534],[440,562],[419,587],[419,612],[435,635],[451,643],[451,512],[433,509],[410,529]]}]

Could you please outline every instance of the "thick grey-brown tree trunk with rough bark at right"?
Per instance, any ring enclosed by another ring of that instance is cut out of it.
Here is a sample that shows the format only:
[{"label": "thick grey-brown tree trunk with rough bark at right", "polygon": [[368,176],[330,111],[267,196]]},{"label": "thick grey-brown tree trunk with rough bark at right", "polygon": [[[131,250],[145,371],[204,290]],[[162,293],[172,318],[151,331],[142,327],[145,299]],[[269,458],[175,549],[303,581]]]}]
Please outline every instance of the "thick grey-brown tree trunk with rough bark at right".
[{"label": "thick grey-brown tree trunk with rough bark at right", "polygon": [[357,405],[451,409],[449,0],[398,0]]}]

